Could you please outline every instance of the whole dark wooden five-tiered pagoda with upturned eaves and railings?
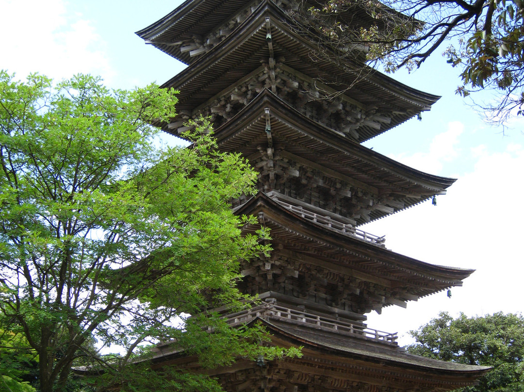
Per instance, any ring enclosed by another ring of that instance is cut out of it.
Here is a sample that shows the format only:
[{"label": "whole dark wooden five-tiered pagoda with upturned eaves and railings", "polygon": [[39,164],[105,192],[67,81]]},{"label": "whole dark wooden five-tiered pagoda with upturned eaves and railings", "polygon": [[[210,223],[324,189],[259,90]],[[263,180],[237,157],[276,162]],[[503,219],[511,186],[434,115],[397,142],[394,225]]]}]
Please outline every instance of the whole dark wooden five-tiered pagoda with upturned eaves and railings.
[{"label": "whole dark wooden five-tiered pagoda with upturned eaves and railings", "polygon": [[[228,391],[446,391],[487,368],[405,353],[396,335],[367,327],[365,313],[405,307],[473,270],[397,254],[358,226],[443,194],[433,176],[361,145],[429,110],[438,96],[340,58],[298,28],[294,0],[189,0],[137,34],[189,65],[165,83],[180,90],[174,135],[211,116],[218,145],[258,171],[258,194],[234,201],[270,227],[269,258],[244,263],[241,289],[263,302],[224,314],[232,326],[263,322],[274,344],[303,346],[301,358],[240,360],[213,369]],[[341,17],[344,17],[342,15]],[[355,9],[353,23],[369,17]],[[331,55],[330,55],[331,53]],[[246,231],[255,230],[247,227]],[[159,347],[157,362],[198,368]]]}]

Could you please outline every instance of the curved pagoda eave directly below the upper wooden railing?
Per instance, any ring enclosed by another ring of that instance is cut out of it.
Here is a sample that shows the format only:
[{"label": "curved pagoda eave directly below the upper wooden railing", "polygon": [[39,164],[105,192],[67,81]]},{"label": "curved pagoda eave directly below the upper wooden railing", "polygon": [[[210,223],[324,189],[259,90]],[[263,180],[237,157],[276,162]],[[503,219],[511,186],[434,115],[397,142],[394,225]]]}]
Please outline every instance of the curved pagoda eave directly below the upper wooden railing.
[{"label": "curved pagoda eave directly below the upper wooden railing", "polygon": [[[357,237],[337,233],[283,208],[261,192],[236,213],[259,216],[262,223],[271,228],[274,241],[288,242],[288,247],[295,247],[300,252],[310,252],[330,263],[383,279],[390,288],[409,287],[410,292],[419,297],[462,286],[462,280],[475,271],[421,262]],[[249,230],[252,229],[254,227]],[[392,303],[386,302],[384,306],[389,304]]]}]

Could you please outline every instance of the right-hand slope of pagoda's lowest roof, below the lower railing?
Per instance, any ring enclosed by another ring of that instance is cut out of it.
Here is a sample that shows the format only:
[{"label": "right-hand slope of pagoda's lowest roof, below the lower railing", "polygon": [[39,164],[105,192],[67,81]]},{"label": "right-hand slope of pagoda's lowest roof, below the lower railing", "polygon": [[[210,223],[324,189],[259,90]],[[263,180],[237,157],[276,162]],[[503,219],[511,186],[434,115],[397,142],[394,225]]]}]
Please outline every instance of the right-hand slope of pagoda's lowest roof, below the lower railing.
[{"label": "right-hand slope of pagoda's lowest roof, below the lower railing", "polygon": [[[342,336],[326,336],[314,329],[294,329],[285,324],[263,322],[277,345],[302,345],[303,357],[292,360],[311,372],[315,363],[340,366],[348,379],[365,381],[377,387],[388,385],[399,390],[411,389],[417,383],[421,390],[451,390],[476,384],[476,378],[490,367],[471,366],[431,360],[391,350],[388,346],[370,346]],[[320,361],[319,361],[320,360]]]}]

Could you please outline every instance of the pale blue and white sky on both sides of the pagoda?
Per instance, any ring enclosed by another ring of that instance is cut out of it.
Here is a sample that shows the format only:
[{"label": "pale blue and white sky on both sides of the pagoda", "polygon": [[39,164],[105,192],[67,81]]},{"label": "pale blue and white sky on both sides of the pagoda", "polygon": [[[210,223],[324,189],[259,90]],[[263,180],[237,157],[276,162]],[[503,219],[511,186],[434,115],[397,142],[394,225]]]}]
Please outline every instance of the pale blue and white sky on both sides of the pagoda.
[{"label": "pale blue and white sky on both sides of the pagoda", "polygon": [[[180,4],[166,0],[75,1],[0,0],[0,68],[23,79],[40,72],[56,80],[83,72],[101,75],[112,88],[162,83],[184,66],[145,45],[134,31]],[[523,122],[506,130],[484,124],[454,94],[459,83],[435,53],[412,74],[394,78],[442,95],[422,121],[413,119],[366,143],[378,153],[419,170],[457,178],[437,205],[426,202],[363,226],[386,235],[386,246],[433,264],[475,268],[461,288],[370,313],[372,328],[401,335],[440,311],[482,315],[522,311],[524,273]],[[489,95],[482,99],[489,100]]]}]

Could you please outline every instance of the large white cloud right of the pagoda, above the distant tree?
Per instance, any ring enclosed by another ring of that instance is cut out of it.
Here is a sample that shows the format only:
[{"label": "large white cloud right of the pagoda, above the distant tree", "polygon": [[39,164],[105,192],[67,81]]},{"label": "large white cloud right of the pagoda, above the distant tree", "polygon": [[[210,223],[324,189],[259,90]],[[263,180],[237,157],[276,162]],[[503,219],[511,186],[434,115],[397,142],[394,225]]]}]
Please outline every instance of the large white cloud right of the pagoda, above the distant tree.
[{"label": "large white cloud right of the pagoda, above the distant tree", "polygon": [[[434,140],[429,153],[416,155],[440,161],[452,158],[457,149],[445,150],[450,145],[442,142],[453,141],[453,135],[460,132]],[[442,154],[433,151],[438,145],[445,150]],[[386,246],[395,252],[432,264],[473,268],[475,273],[464,280],[464,287],[452,288],[451,298],[442,292],[410,302],[408,309],[387,308],[382,315],[369,315],[370,327],[405,333],[440,311],[482,315],[523,310],[517,293],[524,275],[524,209],[520,205],[524,147],[509,143],[497,153],[486,145],[469,150],[472,155],[468,158],[475,162],[473,169],[462,173],[447,195],[438,197],[437,206],[426,202],[363,230],[386,234]]]}]

